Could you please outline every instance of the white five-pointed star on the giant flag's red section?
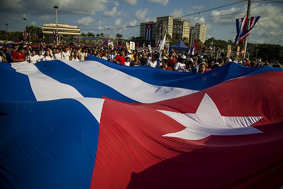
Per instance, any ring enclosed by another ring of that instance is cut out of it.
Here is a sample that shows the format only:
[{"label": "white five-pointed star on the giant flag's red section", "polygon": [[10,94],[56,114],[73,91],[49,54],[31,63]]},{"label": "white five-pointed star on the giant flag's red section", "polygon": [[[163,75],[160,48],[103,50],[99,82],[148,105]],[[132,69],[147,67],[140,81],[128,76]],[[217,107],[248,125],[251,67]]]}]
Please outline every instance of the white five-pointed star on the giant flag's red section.
[{"label": "white five-pointed star on the giant flag's red section", "polygon": [[210,135],[240,135],[260,133],[250,125],[259,121],[261,116],[227,117],[222,116],[213,100],[205,94],[196,113],[176,113],[158,110],[181,123],[185,129],[163,136],[187,140],[200,140]]}]

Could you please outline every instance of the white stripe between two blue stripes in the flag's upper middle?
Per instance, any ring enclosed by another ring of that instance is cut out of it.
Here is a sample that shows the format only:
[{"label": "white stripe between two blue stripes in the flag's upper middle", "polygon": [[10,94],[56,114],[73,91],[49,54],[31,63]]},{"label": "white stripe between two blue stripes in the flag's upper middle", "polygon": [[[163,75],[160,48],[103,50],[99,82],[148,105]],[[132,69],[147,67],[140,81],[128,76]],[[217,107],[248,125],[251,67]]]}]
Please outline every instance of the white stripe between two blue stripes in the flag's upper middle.
[{"label": "white stripe between two blue stripes in the flag's upper middle", "polygon": [[97,61],[84,61],[81,64],[70,60],[60,61],[80,71],[86,76],[108,85],[122,95],[142,103],[159,102],[198,92],[189,89],[148,84],[139,78],[129,76]]}]

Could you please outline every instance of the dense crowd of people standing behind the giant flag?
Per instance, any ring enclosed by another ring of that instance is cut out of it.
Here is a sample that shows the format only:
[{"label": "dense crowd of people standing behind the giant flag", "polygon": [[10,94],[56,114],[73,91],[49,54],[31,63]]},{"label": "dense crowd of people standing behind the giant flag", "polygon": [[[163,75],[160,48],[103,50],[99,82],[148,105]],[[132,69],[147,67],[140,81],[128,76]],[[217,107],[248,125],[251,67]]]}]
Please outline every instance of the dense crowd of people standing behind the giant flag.
[{"label": "dense crowd of people standing behind the giant flag", "polygon": [[168,71],[204,73],[211,69],[235,62],[248,67],[273,66],[281,67],[275,61],[272,65],[269,62],[256,63],[244,59],[238,61],[236,57],[226,57],[224,53],[221,57],[187,54],[171,49],[169,53],[158,48],[152,50],[146,47],[138,47],[135,50],[127,50],[125,46],[117,45],[109,48],[107,45],[46,45],[34,44],[31,46],[3,46],[0,48],[0,61],[14,63],[27,61],[37,63],[39,61],[49,61],[54,59],[64,59],[73,61],[83,61],[89,56],[100,57],[104,60],[118,63],[124,66],[149,66]]}]

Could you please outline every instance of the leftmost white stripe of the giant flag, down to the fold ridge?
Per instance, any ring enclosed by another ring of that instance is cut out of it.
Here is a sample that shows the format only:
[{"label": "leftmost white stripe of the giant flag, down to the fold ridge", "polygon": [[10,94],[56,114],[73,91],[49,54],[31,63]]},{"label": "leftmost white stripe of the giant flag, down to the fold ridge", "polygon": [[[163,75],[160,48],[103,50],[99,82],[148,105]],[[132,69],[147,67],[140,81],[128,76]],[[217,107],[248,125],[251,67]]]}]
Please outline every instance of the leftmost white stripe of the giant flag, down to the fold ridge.
[{"label": "leftmost white stripe of the giant flag, down to the fold ridge", "polygon": [[74,87],[41,73],[34,64],[27,62],[12,63],[12,68],[28,76],[37,101],[83,97]]}]

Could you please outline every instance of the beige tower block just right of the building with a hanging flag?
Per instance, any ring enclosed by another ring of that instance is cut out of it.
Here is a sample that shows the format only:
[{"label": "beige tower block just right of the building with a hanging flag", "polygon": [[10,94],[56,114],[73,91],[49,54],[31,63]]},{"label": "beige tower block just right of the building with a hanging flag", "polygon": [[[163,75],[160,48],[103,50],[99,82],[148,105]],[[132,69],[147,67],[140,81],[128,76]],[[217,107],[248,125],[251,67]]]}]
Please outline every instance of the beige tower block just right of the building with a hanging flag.
[{"label": "beige tower block just right of the building with a hanging flag", "polygon": [[172,38],[182,39],[190,37],[190,22],[183,19],[173,20]]}]

